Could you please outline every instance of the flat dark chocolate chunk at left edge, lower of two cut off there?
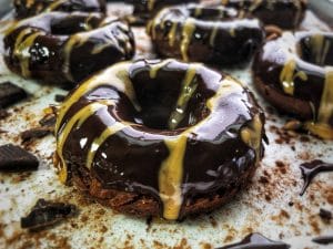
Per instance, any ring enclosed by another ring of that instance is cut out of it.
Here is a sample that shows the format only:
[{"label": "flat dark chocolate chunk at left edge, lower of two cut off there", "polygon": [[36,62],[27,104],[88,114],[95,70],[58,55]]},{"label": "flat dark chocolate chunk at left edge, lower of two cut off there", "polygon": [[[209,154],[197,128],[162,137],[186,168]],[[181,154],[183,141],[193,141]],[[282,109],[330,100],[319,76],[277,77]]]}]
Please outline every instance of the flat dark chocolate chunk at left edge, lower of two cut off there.
[{"label": "flat dark chocolate chunk at left edge, lower of two cut off there", "polygon": [[23,148],[12,144],[0,146],[0,170],[36,170],[38,165],[37,157]]}]

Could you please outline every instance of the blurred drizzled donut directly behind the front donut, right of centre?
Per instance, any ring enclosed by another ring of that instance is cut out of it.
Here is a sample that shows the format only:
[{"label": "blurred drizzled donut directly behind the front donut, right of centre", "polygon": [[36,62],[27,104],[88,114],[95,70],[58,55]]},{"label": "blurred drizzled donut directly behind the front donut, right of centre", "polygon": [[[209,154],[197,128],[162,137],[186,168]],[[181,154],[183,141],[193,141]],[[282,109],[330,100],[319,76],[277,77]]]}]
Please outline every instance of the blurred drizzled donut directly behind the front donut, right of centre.
[{"label": "blurred drizzled donut directly behind the front donut, right of centre", "polygon": [[263,42],[258,19],[240,19],[234,9],[186,4],[165,8],[148,24],[162,56],[231,65],[246,61]]}]

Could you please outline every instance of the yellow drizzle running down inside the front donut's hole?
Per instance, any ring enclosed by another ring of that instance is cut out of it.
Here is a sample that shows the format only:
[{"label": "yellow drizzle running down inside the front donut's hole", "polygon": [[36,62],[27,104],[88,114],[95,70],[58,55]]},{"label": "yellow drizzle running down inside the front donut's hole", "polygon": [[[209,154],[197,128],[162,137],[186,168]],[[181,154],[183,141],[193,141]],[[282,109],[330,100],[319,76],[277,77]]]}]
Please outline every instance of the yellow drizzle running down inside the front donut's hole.
[{"label": "yellow drizzle running down inside the front donut's hole", "polygon": [[169,117],[168,124],[170,129],[175,129],[184,118],[188,103],[190,98],[193,96],[198,86],[195,81],[195,75],[196,75],[196,69],[199,66],[200,64],[191,65],[191,68],[189,68],[186,72],[185,79],[182,82],[181,93],[176,101],[175,110],[171,113]]}]

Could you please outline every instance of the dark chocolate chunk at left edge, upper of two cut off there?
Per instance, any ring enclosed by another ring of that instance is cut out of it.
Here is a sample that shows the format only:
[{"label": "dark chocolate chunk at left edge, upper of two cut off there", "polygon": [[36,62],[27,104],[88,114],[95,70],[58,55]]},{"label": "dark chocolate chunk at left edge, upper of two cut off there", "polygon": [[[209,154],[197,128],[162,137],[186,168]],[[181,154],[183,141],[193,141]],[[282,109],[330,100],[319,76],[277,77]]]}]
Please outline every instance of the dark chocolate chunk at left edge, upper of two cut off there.
[{"label": "dark chocolate chunk at left edge, upper of two cut off there", "polygon": [[27,92],[10,83],[0,83],[0,107],[7,107],[27,97]]}]

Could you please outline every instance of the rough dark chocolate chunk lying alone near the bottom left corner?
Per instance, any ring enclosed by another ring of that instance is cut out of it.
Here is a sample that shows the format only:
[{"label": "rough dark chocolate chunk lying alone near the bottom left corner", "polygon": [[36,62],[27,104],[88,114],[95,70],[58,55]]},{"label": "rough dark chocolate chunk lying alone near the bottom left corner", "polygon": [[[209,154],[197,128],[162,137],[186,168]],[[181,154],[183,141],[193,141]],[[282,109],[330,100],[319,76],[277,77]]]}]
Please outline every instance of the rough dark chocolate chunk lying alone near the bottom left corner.
[{"label": "rough dark chocolate chunk lying alone near the bottom left corner", "polygon": [[46,228],[77,214],[78,209],[74,205],[39,199],[31,212],[21,218],[21,228],[31,230]]}]

